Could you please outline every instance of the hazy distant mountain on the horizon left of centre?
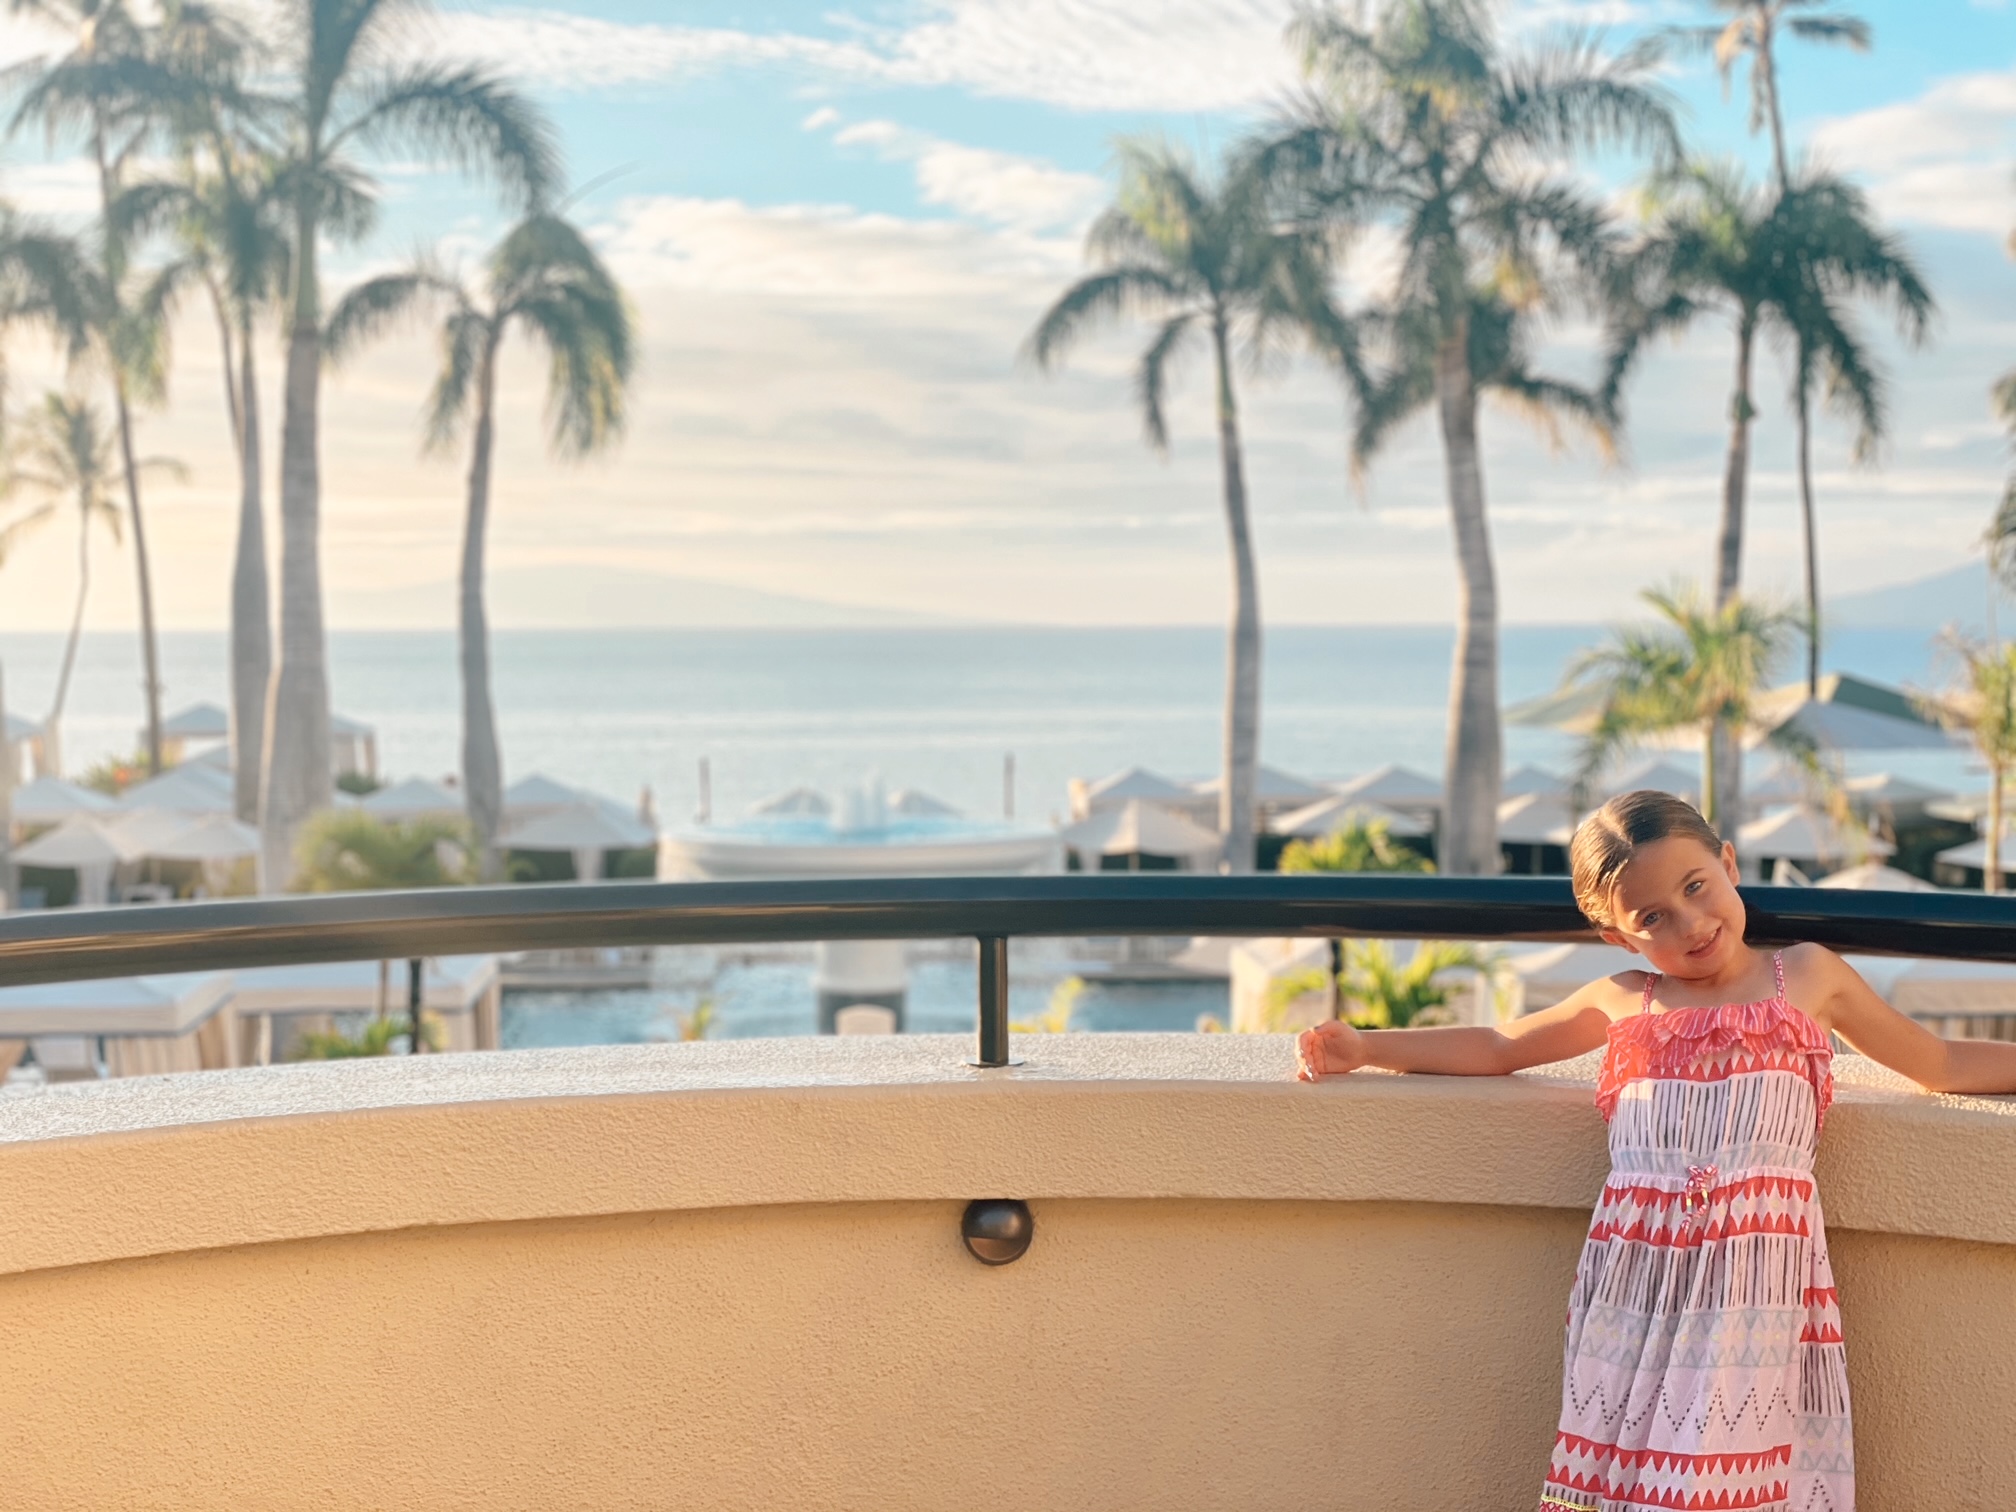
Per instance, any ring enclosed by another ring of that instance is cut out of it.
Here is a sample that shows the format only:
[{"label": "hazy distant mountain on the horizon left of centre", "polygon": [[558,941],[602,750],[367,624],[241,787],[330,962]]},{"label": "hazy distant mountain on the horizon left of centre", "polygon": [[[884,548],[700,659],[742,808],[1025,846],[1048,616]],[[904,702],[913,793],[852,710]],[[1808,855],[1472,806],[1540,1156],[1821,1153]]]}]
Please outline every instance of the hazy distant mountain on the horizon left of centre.
[{"label": "hazy distant mountain on the horizon left of centre", "polygon": [[[407,589],[337,591],[331,601],[333,625],[439,629],[456,623],[456,585],[450,579]],[[494,629],[845,629],[970,623],[950,615],[933,619],[597,562],[500,569],[490,575],[488,607]]]}]

